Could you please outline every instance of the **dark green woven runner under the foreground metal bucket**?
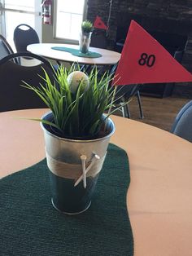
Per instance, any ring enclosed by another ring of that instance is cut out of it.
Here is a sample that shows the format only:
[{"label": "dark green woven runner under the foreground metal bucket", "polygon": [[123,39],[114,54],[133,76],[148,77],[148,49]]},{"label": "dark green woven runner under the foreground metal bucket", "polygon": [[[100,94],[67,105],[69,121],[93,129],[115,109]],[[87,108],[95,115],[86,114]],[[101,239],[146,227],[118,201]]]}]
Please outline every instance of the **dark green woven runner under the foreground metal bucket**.
[{"label": "dark green woven runner under the foreground metal bucket", "polygon": [[133,256],[129,181],[126,152],[113,144],[83,214],[60,214],[51,205],[45,159],[0,180],[1,255]]}]

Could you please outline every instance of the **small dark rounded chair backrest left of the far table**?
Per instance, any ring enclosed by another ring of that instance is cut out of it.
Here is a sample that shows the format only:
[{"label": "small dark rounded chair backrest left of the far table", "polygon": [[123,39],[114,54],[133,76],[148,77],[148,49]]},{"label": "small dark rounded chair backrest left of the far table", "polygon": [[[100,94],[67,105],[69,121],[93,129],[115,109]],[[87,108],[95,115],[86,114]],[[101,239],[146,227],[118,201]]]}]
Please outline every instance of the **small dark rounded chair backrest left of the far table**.
[{"label": "small dark rounded chair backrest left of the far table", "polygon": [[27,51],[29,44],[39,42],[37,32],[28,24],[20,24],[15,28],[13,40],[17,52]]}]

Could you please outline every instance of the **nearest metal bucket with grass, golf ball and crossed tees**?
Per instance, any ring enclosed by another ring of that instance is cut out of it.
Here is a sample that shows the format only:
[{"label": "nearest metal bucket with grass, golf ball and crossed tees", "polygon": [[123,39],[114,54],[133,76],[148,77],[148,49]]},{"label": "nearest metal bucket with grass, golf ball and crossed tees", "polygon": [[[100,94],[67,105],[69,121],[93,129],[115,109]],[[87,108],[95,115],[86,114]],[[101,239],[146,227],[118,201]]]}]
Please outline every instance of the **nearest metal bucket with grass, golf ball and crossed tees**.
[{"label": "nearest metal bucket with grass, golf ball and crossed tees", "polygon": [[41,121],[44,130],[52,204],[67,214],[89,208],[115,130],[109,118],[116,93],[109,85],[111,75],[98,78],[97,68],[87,75],[74,67],[59,66],[54,82],[44,70],[39,87],[24,83],[50,108],[35,120]]}]

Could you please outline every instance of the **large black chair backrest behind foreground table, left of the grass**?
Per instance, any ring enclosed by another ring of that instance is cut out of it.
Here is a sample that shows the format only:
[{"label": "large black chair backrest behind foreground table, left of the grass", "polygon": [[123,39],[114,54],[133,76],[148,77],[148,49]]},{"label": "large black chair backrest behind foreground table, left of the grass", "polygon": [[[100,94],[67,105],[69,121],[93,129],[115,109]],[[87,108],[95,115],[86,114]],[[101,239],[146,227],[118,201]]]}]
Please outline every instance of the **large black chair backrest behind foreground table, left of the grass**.
[{"label": "large black chair backrest behind foreground table, left of the grass", "polygon": [[[23,66],[12,61],[14,58],[20,57],[33,58],[33,60],[38,61],[38,64]],[[15,53],[0,60],[0,112],[26,108],[46,108],[46,104],[32,90],[21,86],[27,82],[31,86],[38,87],[42,82],[39,76],[44,77],[42,68],[45,68],[50,79],[53,78],[54,80],[53,69],[49,61],[32,53]]]}]

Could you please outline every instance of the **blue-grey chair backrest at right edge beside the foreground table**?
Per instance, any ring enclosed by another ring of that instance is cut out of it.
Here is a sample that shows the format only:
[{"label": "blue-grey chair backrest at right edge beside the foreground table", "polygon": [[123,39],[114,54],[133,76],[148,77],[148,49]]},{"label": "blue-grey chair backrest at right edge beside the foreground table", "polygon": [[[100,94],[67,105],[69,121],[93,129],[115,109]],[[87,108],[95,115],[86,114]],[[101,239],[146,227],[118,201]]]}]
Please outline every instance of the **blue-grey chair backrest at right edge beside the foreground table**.
[{"label": "blue-grey chair backrest at right edge beside the foreground table", "polygon": [[185,104],[177,114],[171,132],[192,142],[192,100]]}]

